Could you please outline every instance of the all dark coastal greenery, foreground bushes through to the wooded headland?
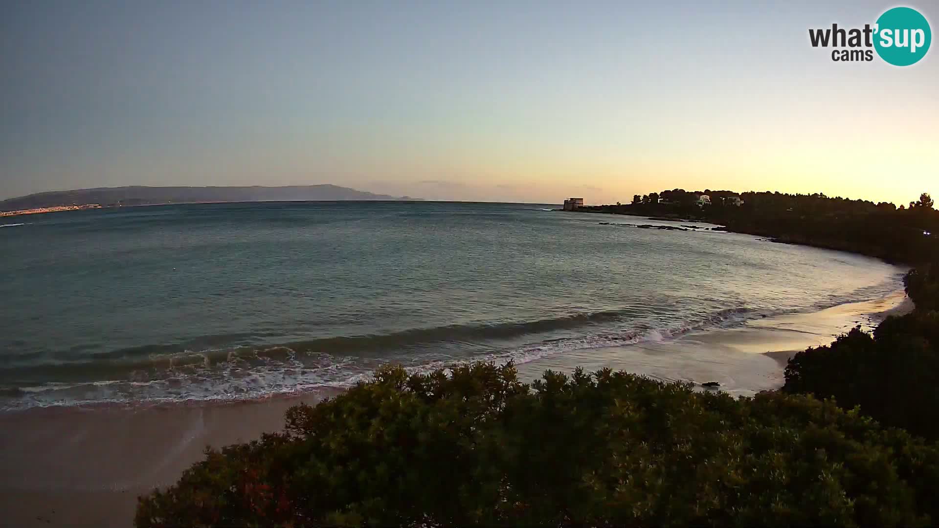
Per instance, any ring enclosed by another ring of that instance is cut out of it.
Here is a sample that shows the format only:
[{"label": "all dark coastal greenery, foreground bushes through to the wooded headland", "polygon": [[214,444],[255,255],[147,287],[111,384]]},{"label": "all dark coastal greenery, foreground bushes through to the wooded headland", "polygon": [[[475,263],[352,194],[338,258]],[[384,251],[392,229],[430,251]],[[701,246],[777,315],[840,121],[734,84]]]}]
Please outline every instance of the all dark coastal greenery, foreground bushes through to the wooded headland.
[{"label": "all dark coastal greenery, foreground bushes through to the wooded headland", "polygon": [[280,433],[208,450],[141,497],[136,525],[936,524],[930,196],[900,209],[821,194],[727,194],[744,200],[732,206],[720,193],[711,206],[663,192],[603,207],[906,263],[915,310],[799,352],[781,390],[737,399],[609,369],[526,384],[511,364],[383,367],[292,408]]}]

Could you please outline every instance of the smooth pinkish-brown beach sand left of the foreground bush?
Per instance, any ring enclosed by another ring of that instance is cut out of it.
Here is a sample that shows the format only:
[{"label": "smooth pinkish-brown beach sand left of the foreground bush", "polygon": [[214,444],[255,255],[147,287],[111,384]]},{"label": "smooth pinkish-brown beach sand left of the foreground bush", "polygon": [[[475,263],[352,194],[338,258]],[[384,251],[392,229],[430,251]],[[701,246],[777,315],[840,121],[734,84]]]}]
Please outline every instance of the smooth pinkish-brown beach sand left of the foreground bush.
[{"label": "smooth pinkish-brown beach sand left of the foreground bush", "polygon": [[337,392],[0,414],[0,525],[131,526],[137,496],[176,482],[206,445],[281,430],[287,408]]}]

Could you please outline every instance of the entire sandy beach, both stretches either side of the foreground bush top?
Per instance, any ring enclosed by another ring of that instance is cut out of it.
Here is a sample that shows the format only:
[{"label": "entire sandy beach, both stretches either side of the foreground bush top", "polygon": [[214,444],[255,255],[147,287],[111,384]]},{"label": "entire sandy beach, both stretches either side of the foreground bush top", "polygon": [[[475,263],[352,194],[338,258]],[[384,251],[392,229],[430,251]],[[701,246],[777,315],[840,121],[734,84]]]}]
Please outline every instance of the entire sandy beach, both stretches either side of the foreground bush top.
[{"label": "entire sandy beach, both stretches either side of the foreground bush top", "polygon": [[[608,349],[584,349],[519,365],[525,380],[546,369],[604,366],[661,380],[717,381],[731,395],[776,389],[796,351],[870,329],[912,309],[897,292],[816,313]],[[131,526],[136,497],[175,482],[207,444],[280,430],[287,408],[335,390],[229,403],[93,406],[0,413],[0,520],[6,526]]]}]

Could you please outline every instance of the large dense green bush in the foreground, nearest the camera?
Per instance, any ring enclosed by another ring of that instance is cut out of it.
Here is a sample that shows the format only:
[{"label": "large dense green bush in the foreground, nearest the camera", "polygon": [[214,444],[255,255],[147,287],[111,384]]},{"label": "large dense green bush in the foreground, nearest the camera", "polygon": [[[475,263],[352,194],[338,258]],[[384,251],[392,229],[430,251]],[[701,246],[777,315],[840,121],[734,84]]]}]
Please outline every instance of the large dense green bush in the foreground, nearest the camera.
[{"label": "large dense green bush in the foreground, nearest the camera", "polygon": [[807,396],[733,399],[608,369],[375,379],[208,451],[136,524],[927,525],[939,449]]}]

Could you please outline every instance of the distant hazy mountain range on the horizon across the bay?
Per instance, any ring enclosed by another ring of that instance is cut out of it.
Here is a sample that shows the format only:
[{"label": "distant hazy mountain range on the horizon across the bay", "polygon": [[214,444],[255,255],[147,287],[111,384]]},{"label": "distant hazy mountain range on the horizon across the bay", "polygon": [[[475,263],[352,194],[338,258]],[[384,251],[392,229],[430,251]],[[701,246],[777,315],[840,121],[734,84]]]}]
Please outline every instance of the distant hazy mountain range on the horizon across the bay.
[{"label": "distant hazy mountain range on the horizon across the bay", "polygon": [[0,201],[0,210],[27,210],[56,206],[100,204],[140,206],[197,202],[279,202],[303,200],[418,200],[356,191],[337,185],[289,187],[101,187],[29,194]]}]

